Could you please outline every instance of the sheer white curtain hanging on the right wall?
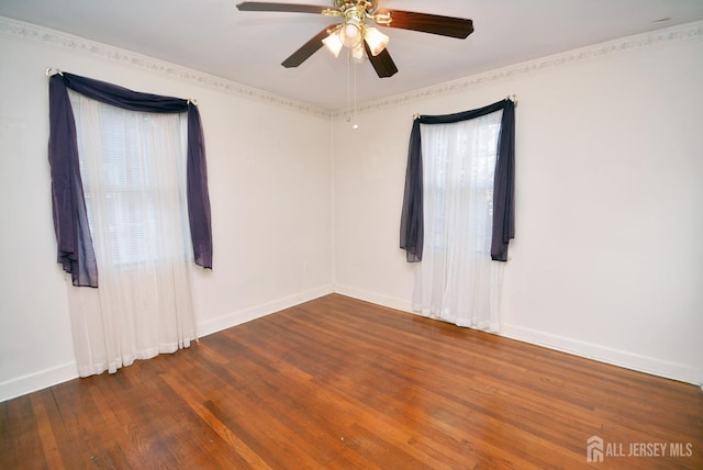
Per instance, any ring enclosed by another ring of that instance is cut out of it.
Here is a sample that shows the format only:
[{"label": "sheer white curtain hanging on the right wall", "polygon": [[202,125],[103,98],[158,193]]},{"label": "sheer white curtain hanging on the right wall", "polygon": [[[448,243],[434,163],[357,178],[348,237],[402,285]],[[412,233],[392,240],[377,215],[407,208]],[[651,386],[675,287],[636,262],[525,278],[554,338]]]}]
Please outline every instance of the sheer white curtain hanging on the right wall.
[{"label": "sheer white curtain hanging on the right wall", "polygon": [[424,245],[414,309],[498,332],[503,262],[491,260],[493,176],[503,112],[422,124]]}]

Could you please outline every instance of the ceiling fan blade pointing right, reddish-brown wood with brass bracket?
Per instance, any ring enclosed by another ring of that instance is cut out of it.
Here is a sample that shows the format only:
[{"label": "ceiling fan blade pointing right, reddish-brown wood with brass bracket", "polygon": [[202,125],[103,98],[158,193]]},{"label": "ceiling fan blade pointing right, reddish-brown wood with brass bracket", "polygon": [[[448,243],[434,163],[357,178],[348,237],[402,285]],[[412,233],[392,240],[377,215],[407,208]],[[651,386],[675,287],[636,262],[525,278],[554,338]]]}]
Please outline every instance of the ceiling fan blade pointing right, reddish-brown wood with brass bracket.
[{"label": "ceiling fan blade pointing right, reddish-brown wood with brass bracket", "polygon": [[473,22],[464,18],[387,9],[377,10],[376,14],[379,16],[390,15],[392,19],[389,24],[378,22],[381,26],[439,34],[440,36],[457,37],[459,40],[466,38],[473,32]]}]

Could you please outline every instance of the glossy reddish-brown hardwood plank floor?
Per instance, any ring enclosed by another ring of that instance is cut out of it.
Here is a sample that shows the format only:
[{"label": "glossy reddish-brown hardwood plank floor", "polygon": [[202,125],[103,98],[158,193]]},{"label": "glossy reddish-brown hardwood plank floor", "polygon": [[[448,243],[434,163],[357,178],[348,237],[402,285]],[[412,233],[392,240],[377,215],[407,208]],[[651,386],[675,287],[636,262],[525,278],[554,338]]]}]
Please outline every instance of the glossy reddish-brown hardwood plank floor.
[{"label": "glossy reddish-brown hardwood plank floor", "polygon": [[702,469],[701,390],[337,294],[0,403],[1,469],[590,467]]}]

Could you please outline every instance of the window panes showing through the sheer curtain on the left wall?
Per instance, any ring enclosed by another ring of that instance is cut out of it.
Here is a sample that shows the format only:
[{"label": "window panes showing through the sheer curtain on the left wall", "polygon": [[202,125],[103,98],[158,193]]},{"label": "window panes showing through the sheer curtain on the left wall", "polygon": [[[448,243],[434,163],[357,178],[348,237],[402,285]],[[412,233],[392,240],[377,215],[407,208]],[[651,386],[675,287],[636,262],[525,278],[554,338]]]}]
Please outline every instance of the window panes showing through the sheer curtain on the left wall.
[{"label": "window panes showing through the sheer curtain on the left wall", "polygon": [[[88,113],[89,119],[97,118],[94,132],[99,132],[99,138],[83,135],[86,123],[77,130],[92,239],[97,238],[97,219],[104,219],[99,237],[107,238],[112,265],[127,269],[157,261],[157,225],[164,214],[177,214],[180,220],[172,230],[187,228],[185,119],[125,111],[94,101],[81,103],[88,99],[74,92],[70,96],[77,123]],[[169,164],[170,159],[175,161]],[[188,234],[182,236],[187,239]],[[188,250],[186,246],[181,251],[183,258]]]}]

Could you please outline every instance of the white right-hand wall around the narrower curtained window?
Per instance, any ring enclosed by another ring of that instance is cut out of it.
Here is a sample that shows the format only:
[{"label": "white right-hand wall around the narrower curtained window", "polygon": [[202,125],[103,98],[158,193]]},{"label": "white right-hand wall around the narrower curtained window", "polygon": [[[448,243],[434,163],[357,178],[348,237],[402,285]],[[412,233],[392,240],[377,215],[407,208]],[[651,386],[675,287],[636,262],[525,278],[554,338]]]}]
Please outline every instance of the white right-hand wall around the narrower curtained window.
[{"label": "white right-hand wall around the narrower curtained window", "polygon": [[502,334],[703,383],[701,24],[362,107],[334,124],[335,290],[410,311],[398,248],[414,113],[517,94]]}]

